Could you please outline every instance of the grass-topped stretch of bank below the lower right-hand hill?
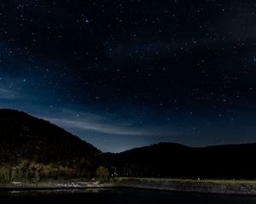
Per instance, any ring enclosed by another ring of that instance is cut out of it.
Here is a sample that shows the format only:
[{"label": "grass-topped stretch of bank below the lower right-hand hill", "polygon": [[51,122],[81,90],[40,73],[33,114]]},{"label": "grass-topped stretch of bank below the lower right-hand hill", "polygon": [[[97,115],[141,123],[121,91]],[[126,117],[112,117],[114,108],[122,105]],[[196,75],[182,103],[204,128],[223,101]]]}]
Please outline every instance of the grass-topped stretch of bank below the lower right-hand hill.
[{"label": "grass-topped stretch of bank below the lower right-hand hill", "polygon": [[211,180],[172,178],[113,178],[115,186],[178,192],[256,195],[256,180]]}]

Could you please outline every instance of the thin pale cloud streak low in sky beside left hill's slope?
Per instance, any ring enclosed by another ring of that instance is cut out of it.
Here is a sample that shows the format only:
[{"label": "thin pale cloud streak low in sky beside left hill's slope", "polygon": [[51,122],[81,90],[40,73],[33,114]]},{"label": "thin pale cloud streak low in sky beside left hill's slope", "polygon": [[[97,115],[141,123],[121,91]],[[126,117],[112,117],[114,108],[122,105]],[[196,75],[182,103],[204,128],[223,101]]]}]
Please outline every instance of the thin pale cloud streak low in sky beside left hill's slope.
[{"label": "thin pale cloud streak low in sky beside left hill's slope", "polygon": [[156,136],[177,135],[177,129],[173,127],[154,127],[149,124],[137,126],[137,119],[130,118],[123,121],[119,116],[111,114],[98,114],[89,111],[77,111],[72,109],[58,109],[58,113],[52,115],[44,112],[44,116],[38,114],[44,120],[52,122],[74,133],[82,130],[84,133],[96,132],[112,135]]}]

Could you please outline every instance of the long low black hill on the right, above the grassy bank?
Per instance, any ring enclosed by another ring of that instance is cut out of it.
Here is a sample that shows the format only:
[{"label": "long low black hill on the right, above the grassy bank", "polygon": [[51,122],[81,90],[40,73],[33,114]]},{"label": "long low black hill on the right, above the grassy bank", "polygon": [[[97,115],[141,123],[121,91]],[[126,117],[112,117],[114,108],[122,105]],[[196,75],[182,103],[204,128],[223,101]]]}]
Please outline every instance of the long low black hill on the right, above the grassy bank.
[{"label": "long low black hill on the right, above the grassy bank", "polygon": [[120,176],[169,178],[256,178],[256,144],[192,148],[160,143],[107,153]]}]

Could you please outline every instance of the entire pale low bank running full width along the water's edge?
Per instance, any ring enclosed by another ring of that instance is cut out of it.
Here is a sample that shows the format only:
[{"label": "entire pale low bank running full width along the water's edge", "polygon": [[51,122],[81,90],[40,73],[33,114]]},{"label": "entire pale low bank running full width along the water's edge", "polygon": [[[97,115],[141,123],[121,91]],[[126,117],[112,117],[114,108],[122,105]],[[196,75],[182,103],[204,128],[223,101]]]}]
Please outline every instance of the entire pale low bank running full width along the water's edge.
[{"label": "entire pale low bank running full width along the water's edge", "polygon": [[256,180],[217,179],[174,179],[174,178],[111,178],[109,183],[99,181],[59,181],[49,180],[37,183],[0,183],[0,190],[64,190],[64,189],[104,189],[130,188],[144,190],[169,190],[177,192],[256,195]]}]

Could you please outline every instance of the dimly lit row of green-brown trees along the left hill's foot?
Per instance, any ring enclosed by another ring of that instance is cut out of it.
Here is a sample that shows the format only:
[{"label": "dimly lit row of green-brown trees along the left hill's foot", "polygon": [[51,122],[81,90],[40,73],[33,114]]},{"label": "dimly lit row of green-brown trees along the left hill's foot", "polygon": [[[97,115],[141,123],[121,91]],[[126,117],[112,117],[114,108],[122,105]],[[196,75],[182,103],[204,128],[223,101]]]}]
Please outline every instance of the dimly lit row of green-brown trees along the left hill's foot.
[{"label": "dimly lit row of green-brown trees along the left hill's foot", "polygon": [[109,180],[111,173],[111,169],[102,165],[91,169],[86,161],[82,161],[75,167],[64,167],[56,164],[44,165],[35,162],[21,161],[15,166],[2,164],[0,167],[0,182],[39,182],[47,179],[72,178],[97,178],[98,180],[106,182]]}]

